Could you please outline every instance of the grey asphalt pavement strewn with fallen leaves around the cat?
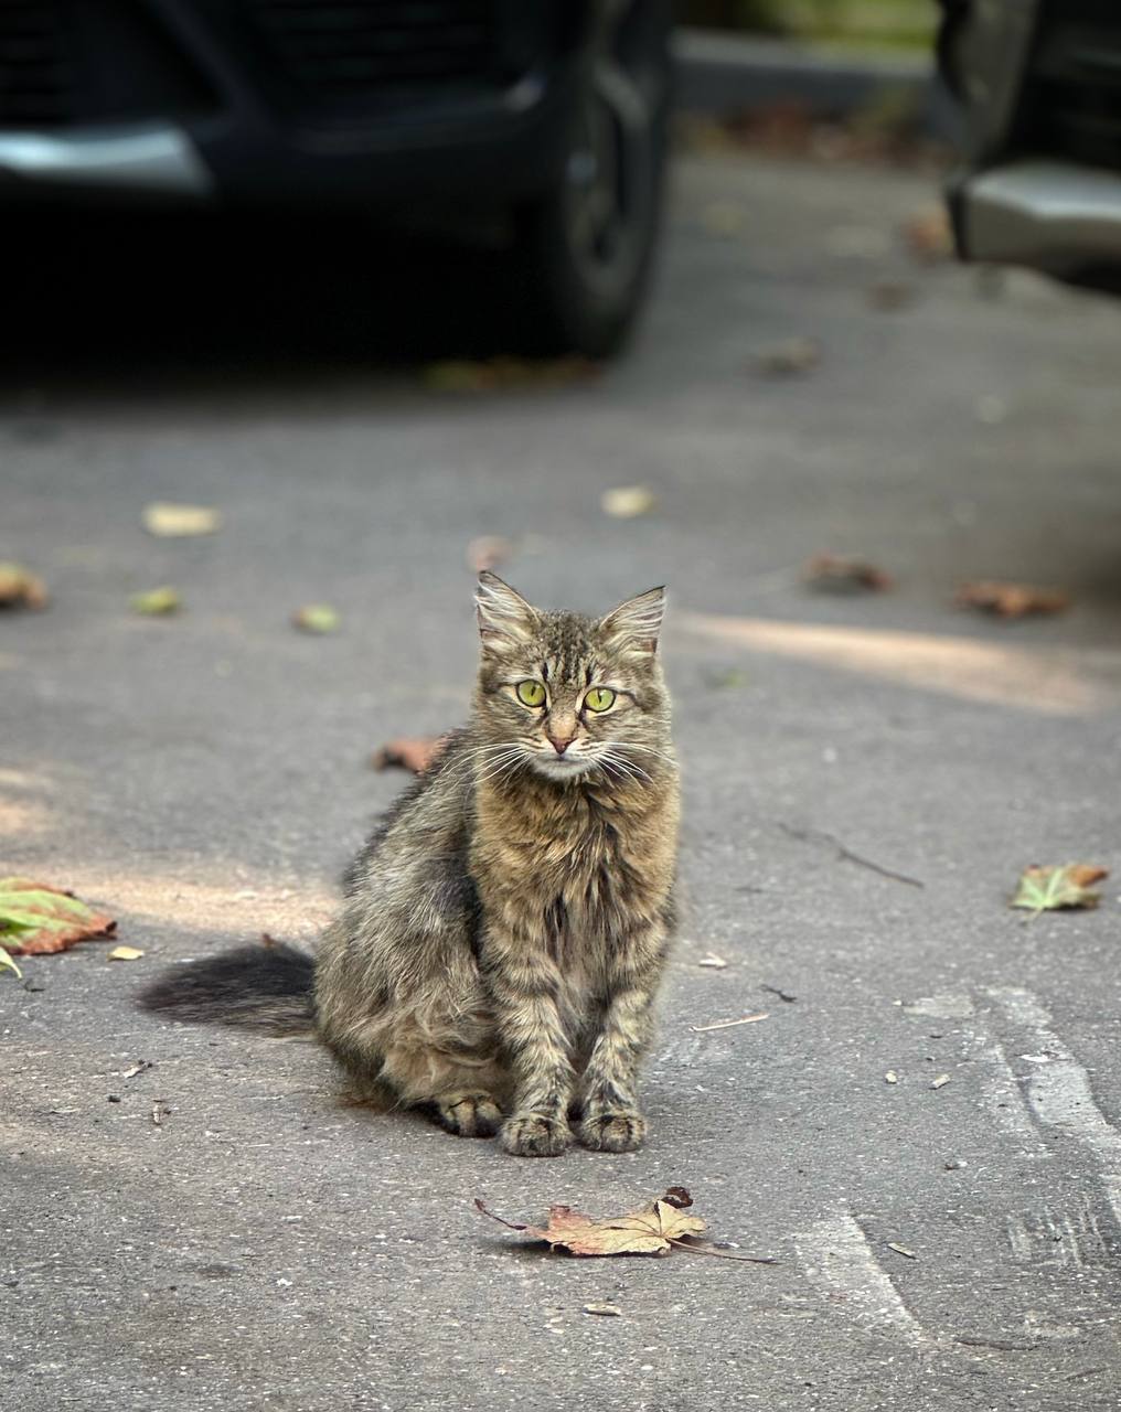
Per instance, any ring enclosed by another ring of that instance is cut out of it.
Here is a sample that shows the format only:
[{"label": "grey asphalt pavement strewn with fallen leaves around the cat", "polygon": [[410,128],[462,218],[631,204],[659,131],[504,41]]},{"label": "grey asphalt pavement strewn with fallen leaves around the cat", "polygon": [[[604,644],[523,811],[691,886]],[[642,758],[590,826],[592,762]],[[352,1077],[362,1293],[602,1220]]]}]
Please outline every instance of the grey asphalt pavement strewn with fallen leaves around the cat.
[{"label": "grey asphalt pavement strewn with fallen leaves around the cat", "polygon": [[[0,977],[6,1405],[1117,1406],[1121,321],[916,261],[899,227],[933,196],[683,160],[631,354],[559,385],[425,376],[469,323],[426,332],[400,289],[383,318],[295,246],[264,273],[232,247],[212,288],[184,237],[155,284],[126,240],[49,291],[99,319],[24,313],[0,558],[54,603],[0,620],[0,873],[76,888],[144,955]],[[791,337],[817,364],[762,373]],[[633,484],[657,507],[604,514]],[[155,500],[222,530],[152,538]],[[169,962],[313,945],[404,784],[370,753],[464,716],[479,535],[534,602],[669,585],[688,907],[640,1154],[518,1161],[347,1106],[311,1043],[133,1008]],[[820,551],[894,587],[812,593]],[[977,578],[1073,606],[954,607]],[[184,611],[131,614],[160,583]],[[289,626],[316,602],[336,635]],[[1097,911],[1007,907],[1072,860],[1115,870]],[[778,1264],[565,1258],[473,1207],[669,1185]]]}]

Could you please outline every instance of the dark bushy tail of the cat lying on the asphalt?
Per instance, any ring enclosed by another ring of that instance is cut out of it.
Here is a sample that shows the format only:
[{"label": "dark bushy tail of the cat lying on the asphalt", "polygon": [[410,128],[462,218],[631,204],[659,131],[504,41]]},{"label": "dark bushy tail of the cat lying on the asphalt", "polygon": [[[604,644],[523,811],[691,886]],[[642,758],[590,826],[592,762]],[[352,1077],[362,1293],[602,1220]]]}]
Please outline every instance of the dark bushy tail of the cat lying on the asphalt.
[{"label": "dark bushy tail of the cat lying on the asphalt", "polygon": [[240,1025],[268,1035],[315,1029],[315,962],[274,942],[171,966],[137,997],[141,1010],[196,1025]]}]

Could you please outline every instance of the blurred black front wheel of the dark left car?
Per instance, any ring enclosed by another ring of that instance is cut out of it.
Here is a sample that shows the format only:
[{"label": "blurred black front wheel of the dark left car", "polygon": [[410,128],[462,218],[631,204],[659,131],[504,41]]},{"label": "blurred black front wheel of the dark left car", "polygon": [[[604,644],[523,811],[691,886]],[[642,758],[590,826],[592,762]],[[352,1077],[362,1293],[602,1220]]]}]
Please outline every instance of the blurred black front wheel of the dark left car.
[{"label": "blurred black front wheel of the dark left car", "polygon": [[556,186],[517,213],[527,340],[609,357],[640,309],[658,233],[669,6],[606,0]]}]

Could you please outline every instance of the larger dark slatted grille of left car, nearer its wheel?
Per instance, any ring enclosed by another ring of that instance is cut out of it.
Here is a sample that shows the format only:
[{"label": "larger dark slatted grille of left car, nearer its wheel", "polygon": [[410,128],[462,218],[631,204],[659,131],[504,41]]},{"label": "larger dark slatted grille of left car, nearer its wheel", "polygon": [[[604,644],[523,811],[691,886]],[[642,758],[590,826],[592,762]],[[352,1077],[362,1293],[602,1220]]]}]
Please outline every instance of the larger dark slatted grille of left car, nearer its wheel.
[{"label": "larger dark slatted grille of left car, nearer its wheel", "polygon": [[306,97],[349,102],[486,80],[494,0],[243,0],[271,58]]}]

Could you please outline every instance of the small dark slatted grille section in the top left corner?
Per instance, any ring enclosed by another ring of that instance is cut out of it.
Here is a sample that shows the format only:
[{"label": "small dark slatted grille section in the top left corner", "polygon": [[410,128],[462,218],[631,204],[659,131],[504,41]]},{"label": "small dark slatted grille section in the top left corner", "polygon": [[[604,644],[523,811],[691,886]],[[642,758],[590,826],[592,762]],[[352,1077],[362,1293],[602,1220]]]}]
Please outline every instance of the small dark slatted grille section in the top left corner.
[{"label": "small dark slatted grille section in the top left corner", "polygon": [[0,126],[55,127],[68,121],[73,78],[62,7],[0,0]]}]

